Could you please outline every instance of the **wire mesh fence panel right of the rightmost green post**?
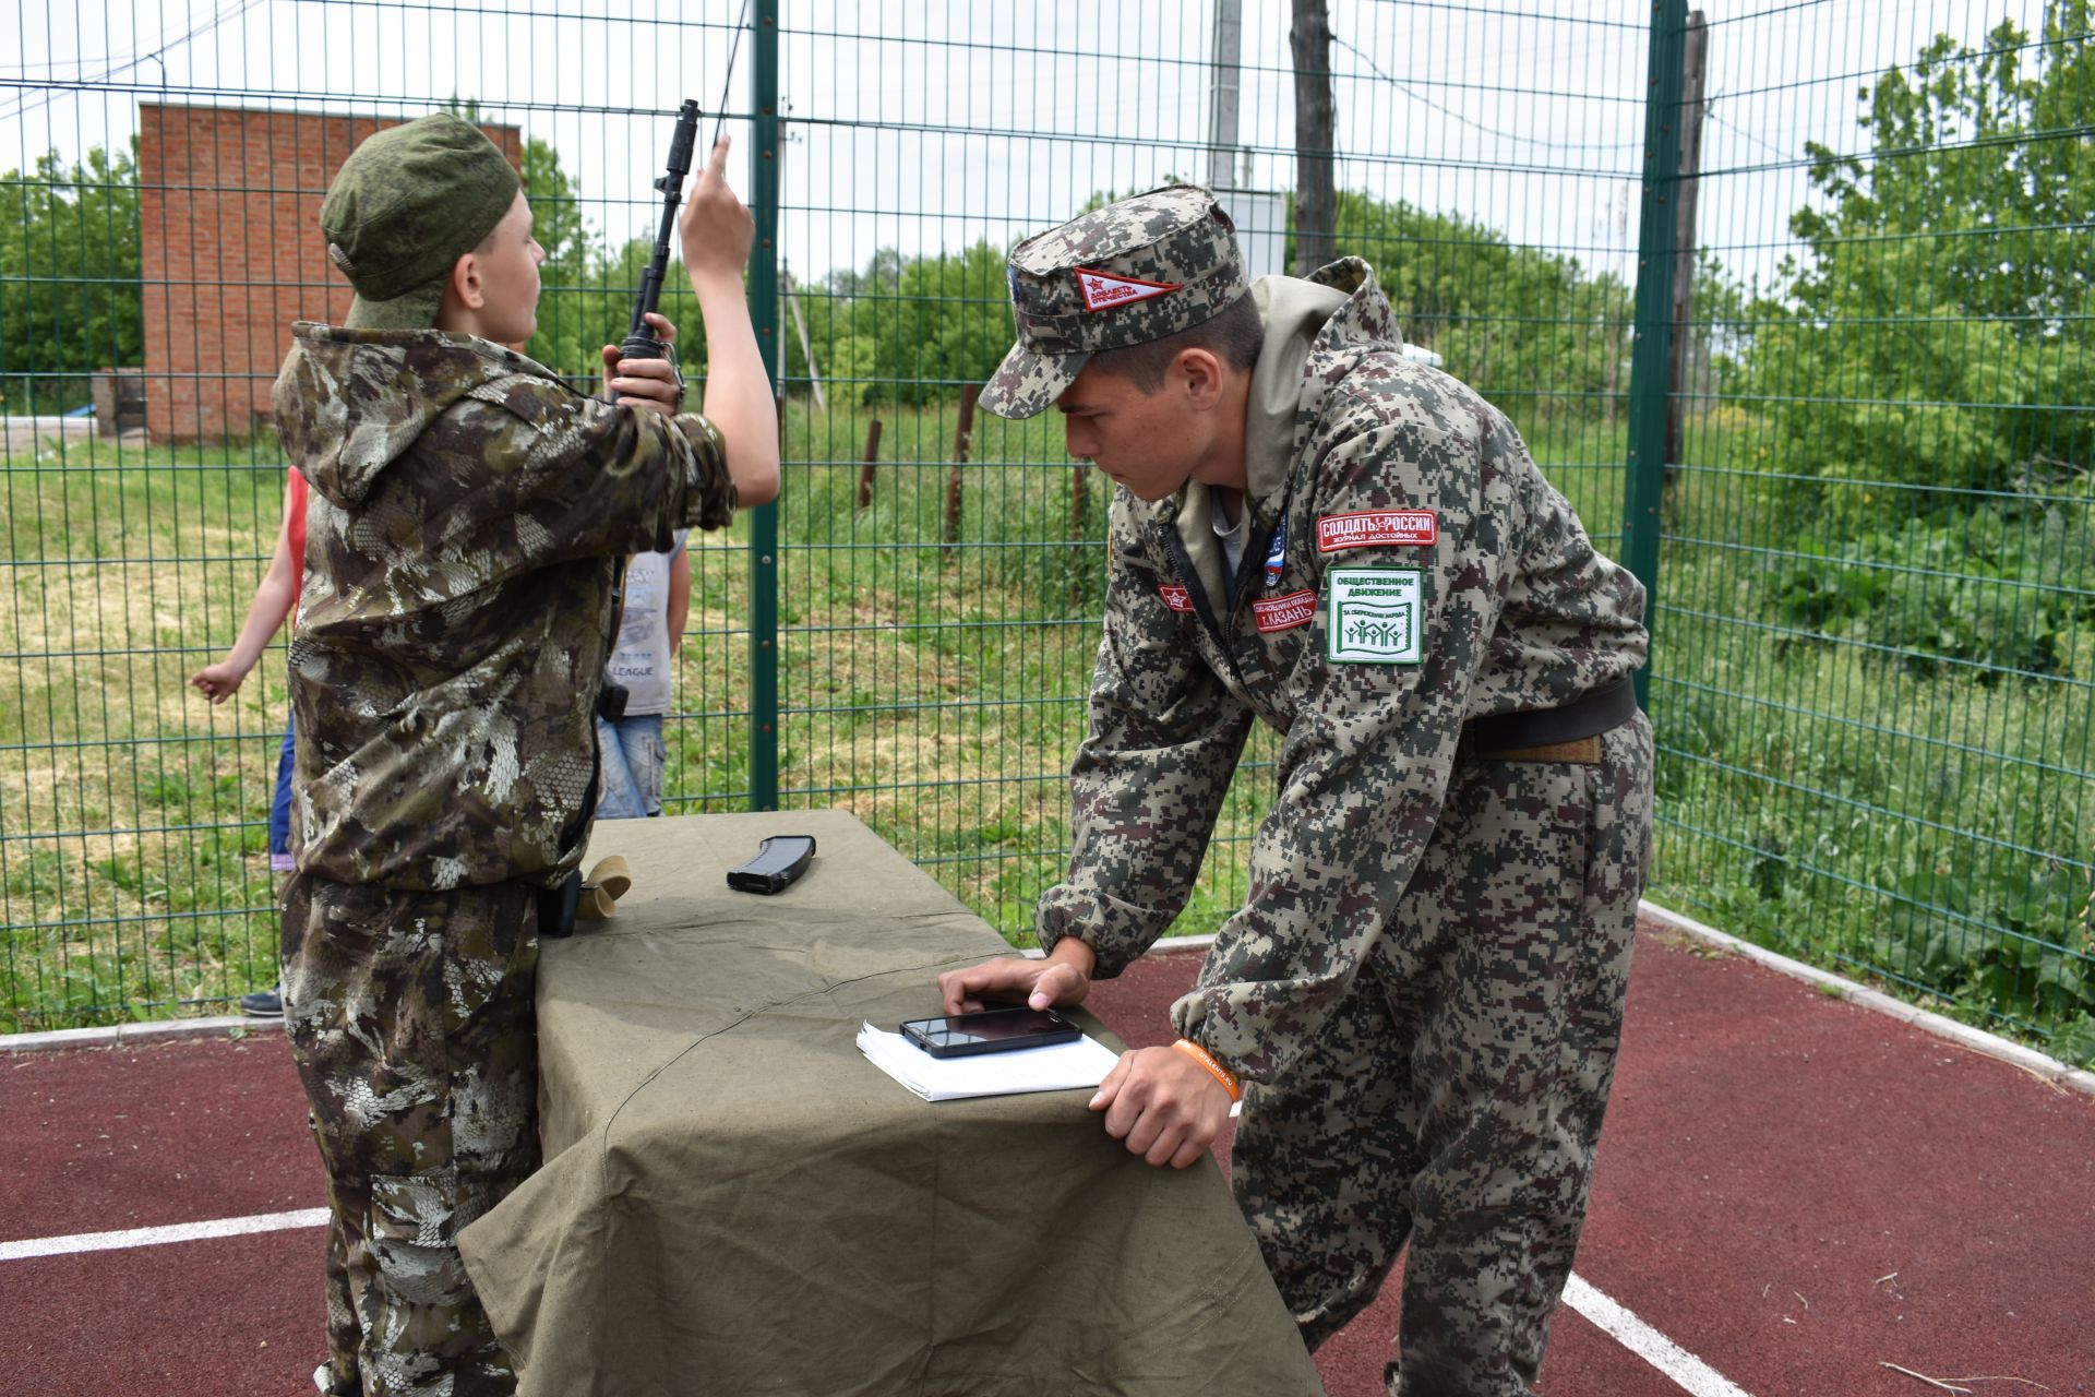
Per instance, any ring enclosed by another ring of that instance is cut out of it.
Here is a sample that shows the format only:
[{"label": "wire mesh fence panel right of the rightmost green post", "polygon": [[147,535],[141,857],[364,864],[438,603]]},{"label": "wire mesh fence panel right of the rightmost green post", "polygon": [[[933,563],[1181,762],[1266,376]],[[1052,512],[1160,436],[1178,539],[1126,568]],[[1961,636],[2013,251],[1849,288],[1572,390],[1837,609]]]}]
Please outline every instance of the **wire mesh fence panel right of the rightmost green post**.
[{"label": "wire mesh fence panel right of the rightmost green post", "polygon": [[1712,10],[1651,679],[1655,896],[2074,1060],[2087,19]]}]

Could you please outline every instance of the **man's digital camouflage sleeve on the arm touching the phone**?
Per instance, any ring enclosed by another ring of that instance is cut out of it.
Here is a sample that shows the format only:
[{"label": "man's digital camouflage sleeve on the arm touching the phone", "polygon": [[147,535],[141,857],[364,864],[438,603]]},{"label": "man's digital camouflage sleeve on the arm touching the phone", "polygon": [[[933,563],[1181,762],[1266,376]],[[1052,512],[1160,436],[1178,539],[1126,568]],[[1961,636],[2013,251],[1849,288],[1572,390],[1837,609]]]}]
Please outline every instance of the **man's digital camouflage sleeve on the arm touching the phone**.
[{"label": "man's digital camouflage sleeve on the arm touching the phone", "polygon": [[1039,903],[1039,943],[1079,936],[1110,978],[1186,905],[1230,790],[1251,710],[1186,641],[1142,561],[1123,501],[1112,507],[1106,626],[1091,677],[1091,733],[1071,767],[1068,878]]}]

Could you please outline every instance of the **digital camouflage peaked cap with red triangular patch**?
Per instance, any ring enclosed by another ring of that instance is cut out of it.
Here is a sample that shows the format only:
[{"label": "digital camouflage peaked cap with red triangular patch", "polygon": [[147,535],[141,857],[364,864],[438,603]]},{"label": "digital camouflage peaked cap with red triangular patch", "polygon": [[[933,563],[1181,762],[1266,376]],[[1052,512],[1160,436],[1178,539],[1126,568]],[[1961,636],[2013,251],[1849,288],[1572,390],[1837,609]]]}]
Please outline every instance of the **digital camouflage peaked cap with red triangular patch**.
[{"label": "digital camouflage peaked cap with red triangular patch", "polygon": [[1211,320],[1249,289],[1236,224],[1198,184],[1108,203],[1012,249],[1018,343],[983,387],[997,417],[1045,411],[1098,350]]}]

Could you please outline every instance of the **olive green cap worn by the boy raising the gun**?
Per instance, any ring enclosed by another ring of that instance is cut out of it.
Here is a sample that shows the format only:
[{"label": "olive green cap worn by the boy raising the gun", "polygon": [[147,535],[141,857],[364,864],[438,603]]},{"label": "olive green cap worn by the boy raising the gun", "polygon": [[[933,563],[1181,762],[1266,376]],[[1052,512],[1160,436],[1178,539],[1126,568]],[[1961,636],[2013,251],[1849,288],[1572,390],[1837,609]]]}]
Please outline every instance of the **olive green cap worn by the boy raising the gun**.
[{"label": "olive green cap worn by the boy raising the gun", "polygon": [[517,189],[501,149],[448,111],[367,136],[321,205],[327,256],[356,287],[348,325],[436,325],[444,276],[494,230]]}]

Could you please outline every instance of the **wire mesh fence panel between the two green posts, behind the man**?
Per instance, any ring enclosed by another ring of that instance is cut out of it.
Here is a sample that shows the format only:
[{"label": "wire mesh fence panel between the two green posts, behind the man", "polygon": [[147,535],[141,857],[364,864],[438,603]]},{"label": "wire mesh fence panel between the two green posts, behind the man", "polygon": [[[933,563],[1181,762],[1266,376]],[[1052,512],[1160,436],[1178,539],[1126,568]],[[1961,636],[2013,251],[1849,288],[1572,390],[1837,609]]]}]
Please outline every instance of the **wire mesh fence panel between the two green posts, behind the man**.
[{"label": "wire mesh fence panel between the two green posts, behind the man", "polygon": [[[1217,36],[1232,10],[1238,31]],[[1332,13],[1337,251],[1383,268],[1418,350],[1494,394],[1607,534],[1647,34],[1531,19],[1510,54],[1481,10]],[[1071,467],[1054,415],[968,408],[1010,346],[1004,253],[1087,203],[1190,178],[1221,191],[1253,270],[1288,270],[1288,25],[1286,4],[792,6],[784,21],[779,241],[798,306],[781,798],[859,808],[1012,932],[1066,852],[1106,482]],[[1232,67],[1217,38],[1238,44]],[[1270,788],[1259,735],[1188,930],[1240,901]]]}]

